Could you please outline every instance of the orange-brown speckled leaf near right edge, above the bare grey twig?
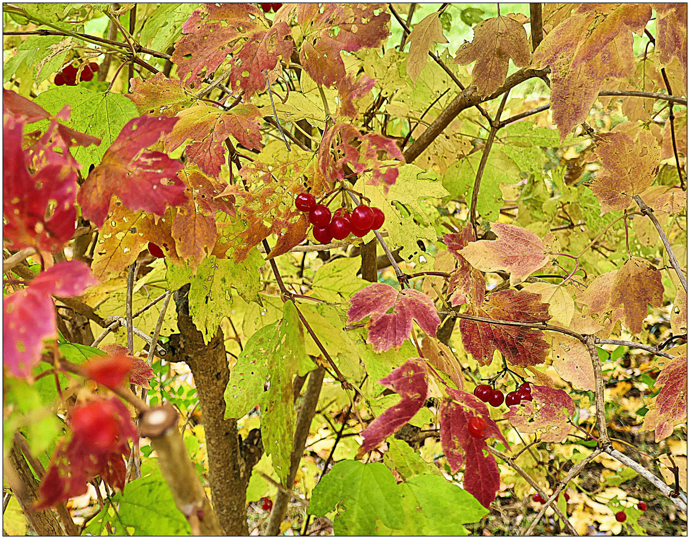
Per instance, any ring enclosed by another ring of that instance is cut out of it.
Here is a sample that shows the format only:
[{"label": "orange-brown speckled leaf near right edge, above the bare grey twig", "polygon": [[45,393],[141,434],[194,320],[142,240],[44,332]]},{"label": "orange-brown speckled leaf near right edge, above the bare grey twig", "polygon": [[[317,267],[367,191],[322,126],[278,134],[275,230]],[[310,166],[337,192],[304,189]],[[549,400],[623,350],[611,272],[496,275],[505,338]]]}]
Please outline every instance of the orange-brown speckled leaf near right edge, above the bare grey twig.
[{"label": "orange-brown speckled leaf near right edge, above the bare grey twig", "polygon": [[640,131],[637,142],[625,133],[596,135],[595,154],[603,169],[589,184],[602,206],[624,210],[633,196],[644,192],[654,182],[661,149],[647,130]]}]

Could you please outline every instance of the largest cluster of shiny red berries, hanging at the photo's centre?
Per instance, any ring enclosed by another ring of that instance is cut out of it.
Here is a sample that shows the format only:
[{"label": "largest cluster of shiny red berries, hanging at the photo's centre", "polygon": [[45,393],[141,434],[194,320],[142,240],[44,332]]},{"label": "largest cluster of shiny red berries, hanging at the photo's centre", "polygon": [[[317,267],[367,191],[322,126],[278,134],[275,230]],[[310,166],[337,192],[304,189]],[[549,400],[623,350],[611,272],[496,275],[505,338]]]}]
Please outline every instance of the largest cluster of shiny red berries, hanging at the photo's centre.
[{"label": "largest cluster of shiny red berries, hanging at the photo's centre", "polygon": [[330,243],[333,238],[345,239],[350,233],[362,237],[369,231],[377,231],[386,220],[379,208],[371,208],[359,204],[348,212],[345,208],[338,208],[335,213],[324,204],[316,204],[311,193],[299,193],[295,200],[298,210],[309,212],[309,222],[314,225],[314,237],[322,244]]}]

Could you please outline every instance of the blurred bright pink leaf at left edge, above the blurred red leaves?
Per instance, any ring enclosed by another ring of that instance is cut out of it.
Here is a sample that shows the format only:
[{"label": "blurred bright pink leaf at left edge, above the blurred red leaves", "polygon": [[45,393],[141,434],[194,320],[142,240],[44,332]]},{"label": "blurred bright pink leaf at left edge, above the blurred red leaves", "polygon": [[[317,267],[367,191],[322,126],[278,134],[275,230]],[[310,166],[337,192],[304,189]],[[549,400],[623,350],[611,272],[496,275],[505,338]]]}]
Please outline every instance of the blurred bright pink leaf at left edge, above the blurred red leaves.
[{"label": "blurred bright pink leaf at left edge, above the blurred red leaves", "polygon": [[74,297],[98,284],[89,267],[78,260],[58,262],[23,290],[3,297],[3,364],[14,376],[26,378],[41,360],[43,339],[55,335],[55,304],[51,295]]}]

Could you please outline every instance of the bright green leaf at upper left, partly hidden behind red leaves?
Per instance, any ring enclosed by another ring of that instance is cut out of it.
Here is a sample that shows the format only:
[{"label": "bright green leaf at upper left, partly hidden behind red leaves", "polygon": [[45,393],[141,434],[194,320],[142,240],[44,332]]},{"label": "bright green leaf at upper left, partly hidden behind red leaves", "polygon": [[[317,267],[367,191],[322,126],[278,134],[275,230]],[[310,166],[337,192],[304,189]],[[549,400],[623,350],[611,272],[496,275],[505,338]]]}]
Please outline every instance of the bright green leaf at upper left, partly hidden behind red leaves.
[{"label": "bright green leaf at upper left, partly hidden behind red leaves", "polygon": [[[106,150],[120,134],[124,125],[132,118],[139,116],[137,107],[124,95],[112,92],[95,92],[83,86],[58,86],[41,92],[34,99],[37,105],[45,108],[50,114],[57,114],[63,106],[72,108],[66,126],[92,137],[99,137],[99,146],[77,146],[72,150],[77,162],[88,170],[92,164],[101,164]],[[46,130],[48,120],[39,121],[35,129]]]}]

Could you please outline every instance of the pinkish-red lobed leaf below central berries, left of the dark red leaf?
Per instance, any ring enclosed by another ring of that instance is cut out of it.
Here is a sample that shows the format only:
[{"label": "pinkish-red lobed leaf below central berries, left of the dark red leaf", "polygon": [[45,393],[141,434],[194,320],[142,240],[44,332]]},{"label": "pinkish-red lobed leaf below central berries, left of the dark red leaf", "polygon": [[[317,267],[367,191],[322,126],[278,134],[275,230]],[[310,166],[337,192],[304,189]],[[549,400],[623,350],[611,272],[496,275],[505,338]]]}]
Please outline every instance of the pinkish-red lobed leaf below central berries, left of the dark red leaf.
[{"label": "pinkish-red lobed leaf below central berries, left of the dark red leaf", "polygon": [[[420,324],[427,335],[436,336],[441,320],[433,301],[424,293],[408,288],[397,291],[390,284],[374,283],[362,288],[350,299],[348,324],[369,317],[366,342],[373,344],[375,353],[401,346],[410,337],[412,320]],[[391,313],[387,313],[393,308]]]}]

